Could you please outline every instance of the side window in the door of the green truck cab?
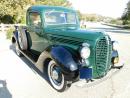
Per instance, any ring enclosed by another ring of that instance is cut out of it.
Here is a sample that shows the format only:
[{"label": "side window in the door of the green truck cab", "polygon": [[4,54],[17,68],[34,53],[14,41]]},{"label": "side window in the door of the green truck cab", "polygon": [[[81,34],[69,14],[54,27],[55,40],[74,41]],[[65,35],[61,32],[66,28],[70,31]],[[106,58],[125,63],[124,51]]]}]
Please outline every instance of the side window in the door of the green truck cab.
[{"label": "side window in the door of the green truck cab", "polygon": [[29,13],[29,25],[32,26],[41,26],[41,18],[40,14],[37,12],[31,12]]}]

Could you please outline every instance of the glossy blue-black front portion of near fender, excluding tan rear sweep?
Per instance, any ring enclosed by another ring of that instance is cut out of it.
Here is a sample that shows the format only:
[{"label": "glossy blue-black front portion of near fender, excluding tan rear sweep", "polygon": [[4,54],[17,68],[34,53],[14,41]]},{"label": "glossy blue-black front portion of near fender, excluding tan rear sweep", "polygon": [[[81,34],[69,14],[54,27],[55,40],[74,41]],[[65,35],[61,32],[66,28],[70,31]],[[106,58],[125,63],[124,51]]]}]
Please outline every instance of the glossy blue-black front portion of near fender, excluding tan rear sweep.
[{"label": "glossy blue-black front portion of near fender, excluding tan rear sweep", "polygon": [[61,67],[66,80],[70,80],[78,76],[79,65],[73,59],[70,51],[63,46],[52,47],[50,51],[51,57]]}]

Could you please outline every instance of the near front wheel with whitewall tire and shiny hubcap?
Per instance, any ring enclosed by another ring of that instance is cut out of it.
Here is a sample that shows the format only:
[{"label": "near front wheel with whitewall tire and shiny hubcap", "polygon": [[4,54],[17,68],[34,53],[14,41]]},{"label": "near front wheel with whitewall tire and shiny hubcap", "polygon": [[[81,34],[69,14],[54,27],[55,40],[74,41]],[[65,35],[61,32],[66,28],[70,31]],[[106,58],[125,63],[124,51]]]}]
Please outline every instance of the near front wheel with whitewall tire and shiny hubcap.
[{"label": "near front wheel with whitewall tire and shiny hubcap", "polygon": [[58,92],[63,92],[70,87],[70,84],[68,84],[64,79],[61,68],[55,63],[54,60],[51,60],[48,63],[47,74],[52,87]]}]

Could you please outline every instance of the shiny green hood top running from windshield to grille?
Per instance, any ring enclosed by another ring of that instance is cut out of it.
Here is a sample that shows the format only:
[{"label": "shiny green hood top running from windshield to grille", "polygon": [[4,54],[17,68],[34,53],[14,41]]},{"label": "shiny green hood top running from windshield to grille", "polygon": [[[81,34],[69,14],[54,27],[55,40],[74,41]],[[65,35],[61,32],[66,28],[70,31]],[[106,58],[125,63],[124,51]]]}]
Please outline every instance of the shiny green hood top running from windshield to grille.
[{"label": "shiny green hood top running from windshield to grille", "polygon": [[70,38],[78,38],[82,40],[94,41],[105,34],[100,31],[86,29],[45,29],[46,34],[55,36],[64,36]]}]

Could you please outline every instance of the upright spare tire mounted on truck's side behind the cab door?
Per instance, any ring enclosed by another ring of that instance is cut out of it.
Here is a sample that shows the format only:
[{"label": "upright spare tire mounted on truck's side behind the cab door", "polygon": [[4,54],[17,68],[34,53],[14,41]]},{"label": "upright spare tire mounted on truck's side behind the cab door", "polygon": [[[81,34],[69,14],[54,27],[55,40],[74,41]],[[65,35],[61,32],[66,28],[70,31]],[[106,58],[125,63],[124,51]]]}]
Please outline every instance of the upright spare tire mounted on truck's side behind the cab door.
[{"label": "upright spare tire mounted on truck's side behind the cab door", "polygon": [[26,35],[25,30],[20,30],[18,32],[18,42],[19,42],[19,47],[21,50],[28,49],[27,35]]}]

